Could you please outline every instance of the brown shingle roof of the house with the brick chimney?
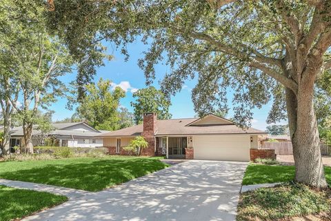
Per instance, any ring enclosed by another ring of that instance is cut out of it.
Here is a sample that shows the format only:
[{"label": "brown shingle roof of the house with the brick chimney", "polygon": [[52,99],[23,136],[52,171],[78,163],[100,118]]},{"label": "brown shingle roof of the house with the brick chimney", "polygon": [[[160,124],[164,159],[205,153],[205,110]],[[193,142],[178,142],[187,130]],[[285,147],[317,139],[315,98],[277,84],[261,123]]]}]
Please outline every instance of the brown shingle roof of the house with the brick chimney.
[{"label": "brown shingle roof of the house with the brick chimney", "polygon": [[[161,119],[157,120],[157,131],[155,135],[213,135],[213,134],[252,134],[262,133],[254,128],[248,128],[243,131],[234,124],[217,124],[217,125],[201,125],[201,126],[186,126],[191,122],[194,122],[197,118],[185,118],[185,119]],[[143,132],[143,125],[130,126],[118,131],[111,131],[103,133],[100,137],[128,137],[139,136]],[[99,136],[98,136],[99,137]]]}]

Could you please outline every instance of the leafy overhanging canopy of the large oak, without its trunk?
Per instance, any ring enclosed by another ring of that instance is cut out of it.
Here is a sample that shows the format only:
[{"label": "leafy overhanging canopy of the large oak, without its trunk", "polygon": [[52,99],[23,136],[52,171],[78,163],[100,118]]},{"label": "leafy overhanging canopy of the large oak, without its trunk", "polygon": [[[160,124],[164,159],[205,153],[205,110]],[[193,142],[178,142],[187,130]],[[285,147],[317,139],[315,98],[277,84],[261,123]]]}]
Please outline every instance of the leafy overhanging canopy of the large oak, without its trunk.
[{"label": "leafy overhanging canopy of the large oak, without its trunk", "polygon": [[[212,2],[81,0],[77,6],[61,1],[49,13],[48,22],[52,30],[63,33],[75,54],[94,50],[97,44],[92,42],[99,43],[98,39],[114,42],[124,55],[128,55],[126,46],[135,39],[149,44],[145,57],[139,60],[146,83],[154,81],[155,67],[161,62],[169,66],[161,81],[161,90],[167,95],[181,90],[185,81],[197,79],[192,101],[199,115],[227,109],[226,94],[231,90],[234,119],[239,124],[250,124],[252,110],[272,100],[270,122],[286,117],[282,85],[291,86],[281,76],[297,84],[297,73],[292,73],[295,68],[290,70],[286,65],[302,62],[290,55],[303,42],[297,39],[313,38],[308,52],[321,42],[320,34],[330,26],[330,15],[324,13],[330,11],[330,4],[322,1],[317,7],[311,1],[234,1],[217,8]],[[312,28],[316,23],[323,28]],[[321,60],[329,55],[326,50]]]}]

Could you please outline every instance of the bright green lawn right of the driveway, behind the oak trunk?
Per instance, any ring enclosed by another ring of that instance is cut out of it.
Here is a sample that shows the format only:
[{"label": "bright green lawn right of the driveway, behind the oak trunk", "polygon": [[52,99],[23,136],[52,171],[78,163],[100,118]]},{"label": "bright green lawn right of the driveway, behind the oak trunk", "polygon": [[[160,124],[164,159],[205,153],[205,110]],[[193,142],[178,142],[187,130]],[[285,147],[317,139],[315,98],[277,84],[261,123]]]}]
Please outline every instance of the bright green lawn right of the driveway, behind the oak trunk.
[{"label": "bright green lawn right of the driveway, behind the oak trunk", "polygon": [[[331,167],[324,166],[325,178],[331,185]],[[243,185],[288,182],[294,180],[294,166],[249,164]]]}]

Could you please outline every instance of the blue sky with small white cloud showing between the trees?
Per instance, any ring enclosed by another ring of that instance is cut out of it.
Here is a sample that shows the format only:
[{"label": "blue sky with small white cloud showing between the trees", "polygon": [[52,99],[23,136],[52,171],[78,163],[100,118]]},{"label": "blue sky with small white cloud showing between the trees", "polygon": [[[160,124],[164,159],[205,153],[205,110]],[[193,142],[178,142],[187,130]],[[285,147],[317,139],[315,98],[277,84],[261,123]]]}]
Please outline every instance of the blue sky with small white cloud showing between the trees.
[{"label": "blue sky with small white cloud showing between the trees", "polygon": [[[130,106],[130,102],[134,100],[132,97],[132,92],[146,86],[143,70],[141,70],[137,65],[137,60],[143,57],[143,51],[146,50],[148,46],[142,44],[141,41],[135,41],[130,44],[128,46],[128,52],[130,54],[128,61],[124,61],[125,57],[121,55],[121,52],[115,50],[114,46],[109,44],[106,44],[106,46],[108,46],[108,53],[110,55],[114,55],[114,59],[112,61],[106,61],[105,66],[97,69],[97,75],[94,77],[94,81],[98,81],[102,77],[103,79],[110,79],[114,82],[114,84],[121,86],[124,90],[126,90],[126,97],[121,99],[121,105],[128,108],[129,111],[133,111]],[[156,88],[159,88],[158,81],[161,80],[167,72],[169,72],[169,68],[165,66],[165,64],[158,64],[156,66],[157,79],[154,81],[154,86]],[[76,74],[72,73],[62,77],[62,80],[65,82],[70,82],[74,80],[75,77]],[[194,88],[195,83],[196,82],[194,80],[185,82],[185,86],[181,92],[172,97],[170,113],[172,113],[173,118],[194,117],[195,113],[191,101],[191,89]],[[231,101],[231,97],[232,94],[229,93],[229,102]],[[66,109],[66,102],[66,99],[59,99],[58,102],[50,106],[50,109],[55,111],[53,120],[59,120],[72,116],[74,111],[69,111]],[[265,119],[268,116],[270,108],[271,104],[266,104],[261,109],[254,109],[252,127],[262,130],[265,129],[265,126],[267,126]],[[231,110],[228,117],[232,117]]]}]

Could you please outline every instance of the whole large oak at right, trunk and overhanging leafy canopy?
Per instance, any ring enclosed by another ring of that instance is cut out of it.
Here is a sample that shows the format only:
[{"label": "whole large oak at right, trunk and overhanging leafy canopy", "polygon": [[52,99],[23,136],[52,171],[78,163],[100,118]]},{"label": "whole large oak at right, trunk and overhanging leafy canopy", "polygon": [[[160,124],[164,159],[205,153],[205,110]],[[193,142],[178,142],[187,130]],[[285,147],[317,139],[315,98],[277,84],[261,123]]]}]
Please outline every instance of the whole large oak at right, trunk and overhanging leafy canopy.
[{"label": "whole large oak at right, trunk and overhanging leafy canopy", "polygon": [[242,125],[272,97],[277,119],[285,99],[295,180],[326,186],[314,87],[331,67],[331,1],[55,0],[50,8],[51,28],[63,33],[72,52],[107,39],[126,54],[126,44],[142,37],[150,44],[139,61],[147,83],[154,65],[167,59],[163,91],[176,93],[185,80],[198,79],[192,100],[199,113],[227,108],[232,90],[234,119]]}]

